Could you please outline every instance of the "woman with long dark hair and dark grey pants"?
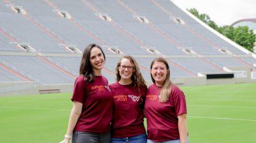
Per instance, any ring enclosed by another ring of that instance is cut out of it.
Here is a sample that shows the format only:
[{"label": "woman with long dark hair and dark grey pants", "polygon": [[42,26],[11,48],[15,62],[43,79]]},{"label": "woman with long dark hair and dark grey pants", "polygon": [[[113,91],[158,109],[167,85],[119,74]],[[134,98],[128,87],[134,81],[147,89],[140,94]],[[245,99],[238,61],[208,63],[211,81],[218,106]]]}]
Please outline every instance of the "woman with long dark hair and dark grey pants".
[{"label": "woman with long dark hair and dark grey pants", "polygon": [[104,64],[105,54],[99,45],[90,44],[84,49],[67,134],[61,143],[69,142],[71,136],[72,143],[110,142],[113,95],[101,73]]}]

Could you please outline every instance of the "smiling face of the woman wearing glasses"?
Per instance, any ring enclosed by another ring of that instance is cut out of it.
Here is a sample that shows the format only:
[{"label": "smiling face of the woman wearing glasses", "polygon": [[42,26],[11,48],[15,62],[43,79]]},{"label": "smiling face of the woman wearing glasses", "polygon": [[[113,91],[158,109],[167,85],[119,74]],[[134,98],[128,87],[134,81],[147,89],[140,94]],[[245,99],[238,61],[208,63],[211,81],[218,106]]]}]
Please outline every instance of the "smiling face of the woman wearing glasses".
[{"label": "smiling face of the woman wearing glasses", "polygon": [[131,79],[132,73],[134,72],[134,64],[129,59],[122,59],[118,71],[121,79]]}]

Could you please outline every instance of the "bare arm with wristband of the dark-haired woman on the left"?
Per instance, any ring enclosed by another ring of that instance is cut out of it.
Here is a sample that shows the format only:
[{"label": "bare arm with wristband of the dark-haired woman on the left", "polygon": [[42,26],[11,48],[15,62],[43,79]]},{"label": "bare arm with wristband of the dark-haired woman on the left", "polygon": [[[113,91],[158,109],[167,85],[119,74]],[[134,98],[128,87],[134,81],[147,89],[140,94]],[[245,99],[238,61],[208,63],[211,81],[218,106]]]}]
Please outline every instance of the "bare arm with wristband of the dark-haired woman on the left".
[{"label": "bare arm with wristband of the dark-haired woman on the left", "polygon": [[[69,121],[68,121],[68,129],[67,129],[66,135],[70,135],[70,136],[72,135],[72,132],[76,126],[77,120],[78,120],[79,116],[81,115],[82,108],[83,108],[83,103],[76,102],[76,101],[73,102],[73,107],[70,112],[70,117],[69,117]],[[67,142],[69,142],[69,140],[70,140],[69,138],[65,138],[60,143],[67,143]]]}]

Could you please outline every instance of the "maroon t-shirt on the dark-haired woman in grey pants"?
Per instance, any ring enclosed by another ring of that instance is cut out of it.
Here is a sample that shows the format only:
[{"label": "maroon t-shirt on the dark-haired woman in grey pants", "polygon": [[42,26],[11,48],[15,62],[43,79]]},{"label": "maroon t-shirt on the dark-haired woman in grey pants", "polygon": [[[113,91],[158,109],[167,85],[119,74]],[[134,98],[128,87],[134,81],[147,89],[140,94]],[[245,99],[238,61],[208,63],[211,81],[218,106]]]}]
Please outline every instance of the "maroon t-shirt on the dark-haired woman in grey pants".
[{"label": "maroon t-shirt on the dark-haired woman in grey pants", "polygon": [[92,83],[84,82],[83,76],[77,77],[71,100],[83,103],[82,113],[77,120],[75,131],[92,133],[110,131],[113,95],[105,77],[95,76]]}]

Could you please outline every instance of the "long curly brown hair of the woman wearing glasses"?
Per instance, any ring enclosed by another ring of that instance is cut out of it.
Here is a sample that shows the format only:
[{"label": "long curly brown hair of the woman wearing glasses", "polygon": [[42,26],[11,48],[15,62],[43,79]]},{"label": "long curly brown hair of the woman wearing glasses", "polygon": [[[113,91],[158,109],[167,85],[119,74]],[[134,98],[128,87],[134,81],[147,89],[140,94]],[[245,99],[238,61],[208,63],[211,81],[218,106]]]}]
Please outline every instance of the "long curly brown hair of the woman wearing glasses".
[{"label": "long curly brown hair of the woman wearing glasses", "polygon": [[134,86],[139,87],[139,88],[142,87],[142,86],[147,86],[146,82],[145,82],[145,80],[142,77],[142,74],[140,72],[139,65],[136,62],[136,60],[134,59],[134,57],[132,57],[132,56],[123,56],[119,59],[118,63],[116,64],[116,70],[115,70],[115,72],[116,72],[116,81],[118,82],[121,79],[118,68],[120,67],[122,59],[129,59],[129,61],[132,64],[134,64],[134,69],[133,69],[134,72],[132,73],[132,76],[131,76],[131,80],[132,80],[132,83],[134,84]]}]

